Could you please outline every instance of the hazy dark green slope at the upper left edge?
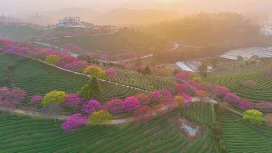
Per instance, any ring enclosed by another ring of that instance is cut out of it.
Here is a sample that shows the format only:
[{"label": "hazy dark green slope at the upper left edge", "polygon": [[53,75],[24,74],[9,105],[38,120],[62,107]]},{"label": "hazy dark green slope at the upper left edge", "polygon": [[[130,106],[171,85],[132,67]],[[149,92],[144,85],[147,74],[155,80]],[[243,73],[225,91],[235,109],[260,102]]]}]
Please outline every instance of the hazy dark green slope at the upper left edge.
[{"label": "hazy dark green slope at the upper left edge", "polygon": [[22,25],[0,25],[0,38],[13,41],[24,41],[29,36],[39,35],[42,30]]}]

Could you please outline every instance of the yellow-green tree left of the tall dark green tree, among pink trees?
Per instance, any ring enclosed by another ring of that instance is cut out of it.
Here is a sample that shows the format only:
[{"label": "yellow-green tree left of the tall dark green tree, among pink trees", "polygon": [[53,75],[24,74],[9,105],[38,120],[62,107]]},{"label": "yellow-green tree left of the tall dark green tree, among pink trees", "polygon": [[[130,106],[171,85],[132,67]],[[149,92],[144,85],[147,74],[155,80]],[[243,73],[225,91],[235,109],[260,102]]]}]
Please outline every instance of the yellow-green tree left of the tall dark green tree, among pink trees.
[{"label": "yellow-green tree left of the tall dark green tree, among pink trees", "polygon": [[63,91],[52,91],[50,93],[47,93],[42,102],[41,102],[41,105],[43,107],[46,107],[48,104],[50,103],[57,103],[57,104],[61,104],[64,102],[65,100],[65,97],[66,97],[66,93],[63,92]]}]

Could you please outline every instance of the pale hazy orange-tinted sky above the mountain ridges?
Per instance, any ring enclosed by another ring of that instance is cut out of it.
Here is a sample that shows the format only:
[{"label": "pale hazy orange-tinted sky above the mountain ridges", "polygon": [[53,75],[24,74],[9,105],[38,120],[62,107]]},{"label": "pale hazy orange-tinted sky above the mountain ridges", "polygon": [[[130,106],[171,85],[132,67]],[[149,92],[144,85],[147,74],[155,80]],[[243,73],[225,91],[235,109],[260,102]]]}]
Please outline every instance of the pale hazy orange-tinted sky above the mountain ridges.
[{"label": "pale hazy orange-tinted sky above the mountain ridges", "polygon": [[271,11],[272,0],[0,0],[0,15],[34,14],[67,7],[108,11],[115,8],[155,8],[183,13]]}]

